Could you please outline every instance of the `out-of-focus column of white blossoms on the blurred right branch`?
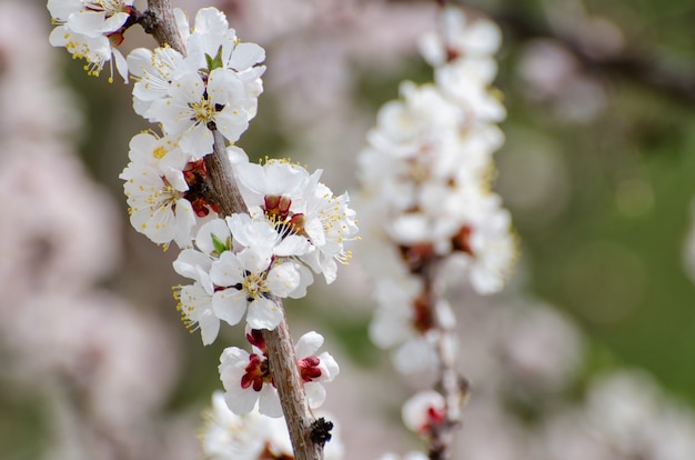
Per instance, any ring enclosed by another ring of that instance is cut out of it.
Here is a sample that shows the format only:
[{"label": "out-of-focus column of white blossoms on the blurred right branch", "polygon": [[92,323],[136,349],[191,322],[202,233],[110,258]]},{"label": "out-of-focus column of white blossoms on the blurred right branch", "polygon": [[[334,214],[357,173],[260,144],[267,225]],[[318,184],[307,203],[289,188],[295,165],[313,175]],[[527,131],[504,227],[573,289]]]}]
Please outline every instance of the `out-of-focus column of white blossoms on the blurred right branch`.
[{"label": "out-of-focus column of white blossoms on the blurred right branch", "polygon": [[435,82],[403,82],[359,157],[363,227],[376,243],[365,258],[380,273],[370,333],[381,347],[400,347],[403,372],[436,363],[436,326],[451,318],[433,292],[434,270],[486,294],[502,289],[515,260],[510,213],[490,191],[505,117],[491,88],[500,41],[494,23],[444,9],[441,33],[421,42]]}]

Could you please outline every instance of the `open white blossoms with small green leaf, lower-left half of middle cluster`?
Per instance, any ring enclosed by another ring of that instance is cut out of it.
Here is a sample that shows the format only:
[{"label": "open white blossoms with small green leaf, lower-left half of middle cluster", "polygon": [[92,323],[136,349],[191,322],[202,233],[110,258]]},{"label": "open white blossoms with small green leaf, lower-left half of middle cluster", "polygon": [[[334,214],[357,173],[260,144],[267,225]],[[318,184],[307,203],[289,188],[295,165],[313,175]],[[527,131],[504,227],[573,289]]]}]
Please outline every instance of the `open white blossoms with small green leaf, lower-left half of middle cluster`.
[{"label": "open white blossoms with small green leaf, lower-left half of middle cluster", "polygon": [[207,287],[210,297],[198,296],[195,311],[212,311],[232,326],[245,313],[252,328],[274,329],[283,314],[276,298],[304,297],[313,281],[306,268],[288,257],[303,253],[306,241],[283,240],[263,219],[233,214],[210,220],[201,226],[194,246],[179,256],[174,270]]}]

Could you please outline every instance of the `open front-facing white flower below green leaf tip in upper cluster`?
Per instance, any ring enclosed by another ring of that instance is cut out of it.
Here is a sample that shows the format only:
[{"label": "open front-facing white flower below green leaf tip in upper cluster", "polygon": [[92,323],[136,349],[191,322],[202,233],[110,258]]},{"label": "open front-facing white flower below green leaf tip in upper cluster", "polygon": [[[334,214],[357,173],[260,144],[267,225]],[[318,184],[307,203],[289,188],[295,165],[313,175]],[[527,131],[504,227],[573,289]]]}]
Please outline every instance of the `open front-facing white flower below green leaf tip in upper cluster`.
[{"label": "open front-facing white flower below green leaf tip in upper cluster", "polygon": [[234,142],[249,126],[241,102],[245,89],[231,70],[214,69],[207,81],[198,70],[184,73],[172,81],[168,93],[152,102],[145,117],[161,122],[168,136],[180,137],[179,147],[193,159],[212,152],[212,129]]}]

